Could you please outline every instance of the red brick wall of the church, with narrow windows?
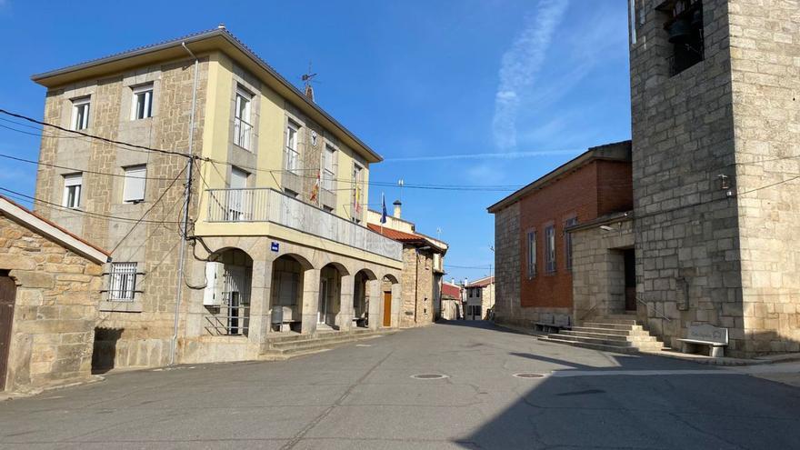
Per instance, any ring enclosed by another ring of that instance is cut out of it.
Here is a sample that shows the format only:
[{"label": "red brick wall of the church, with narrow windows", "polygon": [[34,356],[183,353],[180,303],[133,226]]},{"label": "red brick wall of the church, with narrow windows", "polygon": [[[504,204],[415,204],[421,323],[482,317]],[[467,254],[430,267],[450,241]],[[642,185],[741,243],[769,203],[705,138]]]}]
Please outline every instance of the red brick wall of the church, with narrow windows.
[{"label": "red brick wall of the church, with narrow windows", "polygon": [[[572,274],[566,269],[564,223],[588,222],[633,207],[630,163],[595,161],[520,199],[520,305],[572,307]],[[555,272],[545,272],[545,226],[555,225]],[[527,232],[536,232],[536,275],[527,276]]]}]

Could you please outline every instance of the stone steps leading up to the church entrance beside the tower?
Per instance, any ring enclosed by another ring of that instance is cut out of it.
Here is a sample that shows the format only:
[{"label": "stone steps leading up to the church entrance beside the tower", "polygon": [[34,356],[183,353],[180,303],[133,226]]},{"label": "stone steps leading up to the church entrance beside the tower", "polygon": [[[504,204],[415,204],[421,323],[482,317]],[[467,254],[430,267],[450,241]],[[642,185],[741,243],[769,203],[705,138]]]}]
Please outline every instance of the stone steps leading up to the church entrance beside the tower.
[{"label": "stone steps leading up to the church entrance beside the tower", "polygon": [[664,349],[664,344],[650,335],[633,315],[597,317],[582,326],[573,326],[572,330],[541,336],[539,340],[626,354]]}]

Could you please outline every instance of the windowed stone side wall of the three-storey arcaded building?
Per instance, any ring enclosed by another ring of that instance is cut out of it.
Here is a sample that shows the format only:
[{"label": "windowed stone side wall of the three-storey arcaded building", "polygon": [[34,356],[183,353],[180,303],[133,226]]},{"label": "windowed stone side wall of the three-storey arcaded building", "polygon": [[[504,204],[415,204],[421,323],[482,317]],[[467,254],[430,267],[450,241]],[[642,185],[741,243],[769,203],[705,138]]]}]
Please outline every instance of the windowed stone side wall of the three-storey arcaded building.
[{"label": "windowed stone side wall of the three-storey arcaded building", "polygon": [[[200,63],[195,109],[194,152],[198,155],[202,153],[207,68],[204,58]],[[194,61],[187,59],[65,85],[48,92],[45,121],[68,126],[71,99],[91,95],[86,133],[187,152],[193,81]],[[154,85],[153,117],[131,120],[131,86],[142,83]],[[137,270],[142,273],[136,279],[136,290],[142,292],[135,295],[134,302],[110,302],[103,296],[97,323],[95,365],[165,365],[173,335],[176,265],[181,239],[178,222],[182,216],[185,178],[182,171],[186,158],[133,151],[94,139],[44,137],[40,161],[77,170],[40,165],[36,196],[60,205],[63,175],[84,171],[81,210],[91,214],[41,204],[36,204],[37,213],[112,250],[115,262],[137,263]],[[125,204],[122,202],[123,177],[104,174],[123,175],[123,167],[141,164],[147,167],[145,201]],[[190,207],[192,217],[196,217],[197,193],[203,188],[196,176],[195,181]],[[143,216],[145,220],[137,223]],[[191,264],[191,255],[187,255],[187,261]],[[185,304],[182,307],[185,309]]]}]

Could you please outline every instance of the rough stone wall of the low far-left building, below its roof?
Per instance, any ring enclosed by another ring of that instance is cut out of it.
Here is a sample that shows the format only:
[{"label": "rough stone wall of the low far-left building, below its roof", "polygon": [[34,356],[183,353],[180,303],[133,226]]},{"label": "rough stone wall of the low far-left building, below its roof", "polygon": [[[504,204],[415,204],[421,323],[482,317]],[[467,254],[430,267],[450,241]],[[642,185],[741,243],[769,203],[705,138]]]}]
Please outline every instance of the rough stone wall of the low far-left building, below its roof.
[{"label": "rough stone wall of the low far-left building, below its roof", "polygon": [[6,390],[89,378],[103,266],[0,215],[0,270],[17,285]]}]

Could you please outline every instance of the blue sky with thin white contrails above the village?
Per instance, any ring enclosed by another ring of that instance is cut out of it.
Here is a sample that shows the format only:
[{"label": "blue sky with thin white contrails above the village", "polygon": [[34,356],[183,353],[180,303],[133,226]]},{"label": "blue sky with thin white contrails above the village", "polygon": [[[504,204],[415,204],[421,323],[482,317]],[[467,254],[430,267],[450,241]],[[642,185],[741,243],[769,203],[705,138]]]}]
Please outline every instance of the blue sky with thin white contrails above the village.
[{"label": "blue sky with thin white contrails above the village", "polygon": [[[0,0],[0,108],[41,119],[31,75],[223,23],[295,85],[313,65],[316,103],[384,156],[373,181],[470,186],[373,186],[369,202],[401,198],[450,245],[445,279],[475,279],[494,265],[487,206],[630,138],[626,15],[620,0]],[[38,149],[0,127],[0,154]],[[34,195],[35,165],[0,159],[0,187]]]}]

